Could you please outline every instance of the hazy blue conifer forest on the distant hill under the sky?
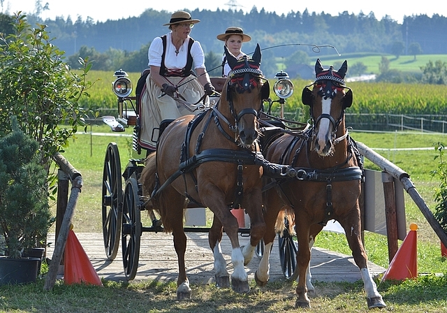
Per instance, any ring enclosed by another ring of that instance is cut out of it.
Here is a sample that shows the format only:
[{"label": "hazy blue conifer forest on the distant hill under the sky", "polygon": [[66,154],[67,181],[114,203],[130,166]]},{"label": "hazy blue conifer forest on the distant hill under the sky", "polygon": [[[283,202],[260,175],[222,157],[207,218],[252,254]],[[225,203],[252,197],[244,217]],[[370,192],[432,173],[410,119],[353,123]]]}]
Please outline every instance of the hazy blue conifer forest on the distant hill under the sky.
[{"label": "hazy blue conifer forest on the distant hill under the sky", "polygon": [[[447,53],[447,17],[440,15],[414,15],[404,18],[399,24],[390,18],[377,20],[373,13],[349,14],[347,11],[337,16],[323,13],[291,12],[277,15],[265,10],[252,9],[250,13],[242,10],[193,10],[191,15],[201,22],[194,27],[191,36],[200,41],[205,53],[221,53],[222,43],[216,39],[229,26],[240,26],[253,40],[244,44],[247,51],[254,50],[256,43],[261,48],[272,45],[305,43],[333,45],[340,53],[379,52],[391,53],[393,43],[402,42],[406,47],[410,43],[419,43],[424,54]],[[56,39],[54,44],[67,55],[77,52],[82,45],[104,52],[109,48],[140,50],[148,45],[155,36],[168,32],[162,25],[169,21],[170,12],[148,9],[137,17],[122,20],[95,22],[90,17],[82,20],[67,20],[60,17],[43,21]],[[86,13],[88,15],[88,12]],[[29,16],[31,25],[38,17]],[[40,21],[42,22],[42,21]],[[1,31],[1,30],[0,30]],[[284,54],[296,48],[274,50],[275,54]],[[303,48],[310,51],[310,48]],[[334,50],[328,50],[334,54]]]}]

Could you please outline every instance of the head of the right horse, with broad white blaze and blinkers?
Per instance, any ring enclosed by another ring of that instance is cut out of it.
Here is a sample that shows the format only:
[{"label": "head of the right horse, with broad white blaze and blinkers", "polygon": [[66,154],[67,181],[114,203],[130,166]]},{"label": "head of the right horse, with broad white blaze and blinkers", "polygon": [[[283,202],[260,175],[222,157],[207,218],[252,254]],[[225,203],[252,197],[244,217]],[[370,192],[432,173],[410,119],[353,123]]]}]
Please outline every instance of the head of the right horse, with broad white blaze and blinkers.
[{"label": "head of the right horse, with broad white blaze and blinkers", "polygon": [[[347,70],[346,60],[339,70],[335,71],[333,66],[324,69],[320,59],[317,59],[316,80],[302,90],[302,103],[310,106],[313,121],[311,149],[321,157],[332,155],[336,136],[343,136],[345,133],[344,110],[349,108],[353,101],[352,91],[344,82]],[[311,86],[312,90],[309,89]],[[345,92],[345,89],[348,89],[348,92]]]}]

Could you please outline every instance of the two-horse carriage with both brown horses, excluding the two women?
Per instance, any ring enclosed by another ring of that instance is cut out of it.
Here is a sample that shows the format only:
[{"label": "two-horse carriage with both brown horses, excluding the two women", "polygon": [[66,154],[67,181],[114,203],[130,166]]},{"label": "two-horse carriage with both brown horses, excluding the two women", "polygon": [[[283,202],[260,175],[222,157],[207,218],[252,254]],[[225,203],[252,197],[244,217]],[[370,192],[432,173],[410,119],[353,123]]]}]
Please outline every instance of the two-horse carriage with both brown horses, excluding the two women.
[{"label": "two-horse carriage with both brown horses, excluding the two women", "polygon": [[[221,94],[199,115],[162,123],[156,152],[131,159],[122,173],[118,147],[115,143],[108,145],[102,194],[106,256],[115,259],[121,237],[124,273],[131,280],[138,268],[142,233],[173,233],[179,261],[177,299],[190,298],[184,265],[185,232],[207,231],[217,286],[229,287],[231,280],[233,290],[247,292],[244,265],[254,254],[262,258],[255,280],[263,286],[269,278],[272,241],[280,233],[284,276],[295,280],[299,275],[296,306],[309,307],[307,291],[314,290],[310,249],[322,224],[337,219],[346,234],[351,233],[346,237],[362,273],[368,306],[384,307],[367,270],[360,241],[362,168],[355,143],[344,126],[344,110],[352,103],[352,92],[344,85],[346,62],[339,71],[332,66],[323,71],[317,61],[317,79],[302,92],[303,103],[310,107],[310,127],[301,123],[290,126],[291,121],[282,116],[270,115],[272,103],[284,105],[293,93],[293,84],[286,73],[278,73],[273,90],[279,99],[270,99],[269,82],[260,70],[259,46],[251,58],[237,60],[227,53],[227,59],[232,68],[228,78],[212,78]],[[118,120],[104,118],[115,131],[133,126],[133,150],[138,154],[144,150],[139,113],[145,75],[147,71],[138,81],[135,96],[130,96],[131,81],[126,73],[115,73]],[[269,103],[266,112],[265,102]],[[211,227],[184,227],[183,212],[194,207],[210,208]],[[239,227],[230,212],[233,208],[244,208],[250,218],[249,228]],[[140,214],[145,210],[152,219],[151,226],[142,226]],[[223,231],[233,247],[231,279],[220,249]],[[249,245],[240,247],[238,233],[249,235]]]}]

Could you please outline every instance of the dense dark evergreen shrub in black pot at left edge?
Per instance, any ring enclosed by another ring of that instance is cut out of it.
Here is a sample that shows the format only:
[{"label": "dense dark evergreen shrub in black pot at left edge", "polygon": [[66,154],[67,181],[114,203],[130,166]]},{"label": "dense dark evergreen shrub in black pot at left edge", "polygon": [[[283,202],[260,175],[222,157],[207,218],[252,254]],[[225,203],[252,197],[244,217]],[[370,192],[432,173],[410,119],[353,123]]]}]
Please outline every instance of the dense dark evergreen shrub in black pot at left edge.
[{"label": "dense dark evergreen shrub in black pot at left edge", "polygon": [[26,254],[43,246],[54,221],[39,145],[19,129],[17,119],[12,124],[13,131],[0,138],[0,284],[36,280],[41,260]]}]

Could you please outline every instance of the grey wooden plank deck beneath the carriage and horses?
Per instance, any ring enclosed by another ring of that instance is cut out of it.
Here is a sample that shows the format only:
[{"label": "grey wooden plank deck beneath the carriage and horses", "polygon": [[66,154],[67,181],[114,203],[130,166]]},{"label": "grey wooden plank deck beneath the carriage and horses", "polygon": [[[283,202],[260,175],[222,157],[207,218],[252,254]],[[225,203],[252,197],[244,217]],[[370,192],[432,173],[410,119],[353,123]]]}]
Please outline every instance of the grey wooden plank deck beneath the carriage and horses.
[{"label": "grey wooden plank deck beneath the carriage and horses", "polygon": [[[186,247],[186,271],[191,283],[214,282],[213,256],[208,245],[207,233],[186,233],[188,243]],[[94,265],[99,277],[112,281],[126,281],[122,265],[121,245],[114,261],[105,257],[102,233],[76,233],[78,240],[84,248],[91,263]],[[47,249],[47,258],[51,259],[54,247],[54,233],[48,236],[47,242],[53,245]],[[240,236],[240,245],[247,245],[249,238]],[[223,256],[231,267],[230,240],[224,234],[221,243]],[[254,279],[259,259],[255,255],[246,266],[249,279]],[[385,272],[385,268],[369,262],[371,275]],[[140,245],[140,261],[135,281],[143,279],[157,279],[162,282],[177,279],[177,255],[173,246],[172,235],[167,233],[143,233]],[[360,271],[354,263],[352,256],[346,256],[327,249],[314,247],[312,249],[311,272],[313,281],[323,282],[356,282],[361,279]],[[61,278],[61,277],[59,277]],[[270,280],[284,279],[279,263],[277,241],[274,242],[270,259]]]}]

